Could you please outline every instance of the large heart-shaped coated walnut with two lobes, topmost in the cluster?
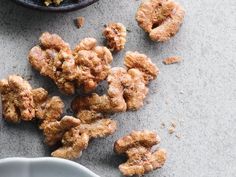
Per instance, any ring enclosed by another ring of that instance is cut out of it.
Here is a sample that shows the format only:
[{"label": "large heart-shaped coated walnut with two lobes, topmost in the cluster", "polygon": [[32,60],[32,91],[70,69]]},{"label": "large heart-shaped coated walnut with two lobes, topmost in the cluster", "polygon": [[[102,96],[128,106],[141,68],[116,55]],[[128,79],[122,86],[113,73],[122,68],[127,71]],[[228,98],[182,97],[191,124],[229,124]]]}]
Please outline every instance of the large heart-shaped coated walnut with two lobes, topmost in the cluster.
[{"label": "large heart-shaped coated walnut with two lobes, topmost in the cluster", "polygon": [[66,94],[75,93],[79,86],[90,92],[106,79],[113,59],[108,48],[96,42],[85,38],[72,51],[61,37],[46,32],[40,37],[40,45],[30,50],[29,62]]}]

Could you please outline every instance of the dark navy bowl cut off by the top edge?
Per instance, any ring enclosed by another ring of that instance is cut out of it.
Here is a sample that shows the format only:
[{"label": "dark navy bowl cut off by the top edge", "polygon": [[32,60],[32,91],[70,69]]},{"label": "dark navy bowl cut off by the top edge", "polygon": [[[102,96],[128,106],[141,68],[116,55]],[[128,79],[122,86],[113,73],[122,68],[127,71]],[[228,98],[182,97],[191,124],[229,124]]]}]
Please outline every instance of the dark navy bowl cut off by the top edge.
[{"label": "dark navy bowl cut off by the top edge", "polygon": [[53,11],[53,12],[68,12],[77,9],[82,9],[87,7],[98,0],[79,0],[76,2],[75,0],[64,0],[59,6],[45,6],[42,0],[13,0],[17,4],[23,5],[25,7],[43,11]]}]

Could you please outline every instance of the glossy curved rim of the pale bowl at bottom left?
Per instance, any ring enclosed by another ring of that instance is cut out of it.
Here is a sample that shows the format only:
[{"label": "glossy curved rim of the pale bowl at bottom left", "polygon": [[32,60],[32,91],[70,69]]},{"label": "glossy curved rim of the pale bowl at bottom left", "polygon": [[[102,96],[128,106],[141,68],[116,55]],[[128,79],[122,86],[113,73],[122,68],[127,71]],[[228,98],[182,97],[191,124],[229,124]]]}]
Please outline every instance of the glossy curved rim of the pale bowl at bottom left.
[{"label": "glossy curved rim of the pale bowl at bottom left", "polygon": [[53,162],[53,163],[57,163],[57,164],[64,164],[64,165],[66,164],[66,165],[72,166],[74,168],[77,168],[77,169],[83,171],[84,173],[86,173],[87,175],[90,175],[91,177],[100,177],[83,165],[80,165],[80,164],[70,161],[70,160],[56,158],[56,157],[38,157],[38,158],[9,157],[9,158],[0,159],[0,166],[3,164],[10,164],[13,162],[22,162],[22,163]]}]

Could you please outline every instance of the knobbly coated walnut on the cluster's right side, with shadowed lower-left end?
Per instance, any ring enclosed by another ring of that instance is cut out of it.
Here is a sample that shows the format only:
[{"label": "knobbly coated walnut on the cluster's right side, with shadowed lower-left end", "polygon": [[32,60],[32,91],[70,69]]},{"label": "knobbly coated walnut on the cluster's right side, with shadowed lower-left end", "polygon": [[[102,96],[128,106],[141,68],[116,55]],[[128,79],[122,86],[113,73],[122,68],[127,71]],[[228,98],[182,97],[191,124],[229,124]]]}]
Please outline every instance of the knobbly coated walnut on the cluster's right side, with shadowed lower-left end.
[{"label": "knobbly coated walnut on the cluster's right side, with shadowed lower-left end", "polygon": [[138,52],[126,53],[125,66],[128,70],[121,67],[110,70],[106,94],[77,97],[72,102],[72,109],[75,112],[117,113],[142,107],[148,93],[147,84],[157,77],[159,70],[146,55]]}]

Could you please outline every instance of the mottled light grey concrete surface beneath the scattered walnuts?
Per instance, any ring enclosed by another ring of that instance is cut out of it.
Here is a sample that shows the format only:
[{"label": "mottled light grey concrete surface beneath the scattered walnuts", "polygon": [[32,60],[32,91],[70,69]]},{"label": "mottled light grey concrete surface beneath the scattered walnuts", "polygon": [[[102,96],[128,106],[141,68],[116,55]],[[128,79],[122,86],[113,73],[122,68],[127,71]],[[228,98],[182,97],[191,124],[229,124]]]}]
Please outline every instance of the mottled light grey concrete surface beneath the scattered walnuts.
[{"label": "mottled light grey concrete surface beneath the scattered walnuts", "polygon": [[[84,37],[103,42],[101,30],[110,21],[124,23],[131,31],[124,51],[114,56],[122,66],[125,51],[146,53],[160,68],[150,85],[145,106],[137,112],[112,116],[119,122],[114,136],[91,142],[76,160],[102,177],[121,176],[124,161],[114,155],[114,141],[133,129],[152,129],[168,151],[166,165],[147,177],[233,177],[236,174],[236,1],[179,0],[187,15],[180,32],[165,43],[151,42],[134,20],[140,1],[101,0],[86,9],[51,14],[25,9],[9,0],[0,2],[0,78],[30,75],[30,83],[58,95],[54,84],[33,71],[26,56],[44,31],[61,35],[74,46]],[[77,29],[73,19],[86,18]],[[180,55],[180,64],[165,66],[162,59]],[[69,105],[72,97],[63,96]],[[161,122],[177,122],[175,134]],[[50,149],[35,123],[10,125],[0,120],[0,158],[49,156]]]}]

